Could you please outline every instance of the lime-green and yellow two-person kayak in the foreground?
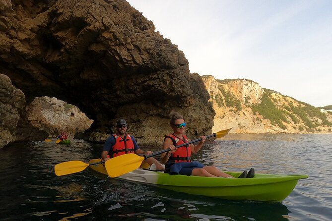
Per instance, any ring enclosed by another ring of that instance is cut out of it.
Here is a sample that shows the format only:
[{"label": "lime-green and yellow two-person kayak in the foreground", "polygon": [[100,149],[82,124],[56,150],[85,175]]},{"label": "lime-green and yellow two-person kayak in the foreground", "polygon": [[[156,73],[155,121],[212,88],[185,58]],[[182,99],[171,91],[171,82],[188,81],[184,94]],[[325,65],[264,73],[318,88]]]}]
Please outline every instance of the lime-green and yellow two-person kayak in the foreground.
[{"label": "lime-green and yellow two-person kayak in the foreground", "polygon": [[[100,159],[89,161],[90,168],[107,175]],[[237,177],[241,172],[227,172]],[[131,182],[155,185],[194,195],[230,200],[282,201],[294,189],[299,179],[308,175],[255,174],[251,179],[227,179],[202,176],[169,175],[168,173],[146,169],[135,169],[117,178]]]}]

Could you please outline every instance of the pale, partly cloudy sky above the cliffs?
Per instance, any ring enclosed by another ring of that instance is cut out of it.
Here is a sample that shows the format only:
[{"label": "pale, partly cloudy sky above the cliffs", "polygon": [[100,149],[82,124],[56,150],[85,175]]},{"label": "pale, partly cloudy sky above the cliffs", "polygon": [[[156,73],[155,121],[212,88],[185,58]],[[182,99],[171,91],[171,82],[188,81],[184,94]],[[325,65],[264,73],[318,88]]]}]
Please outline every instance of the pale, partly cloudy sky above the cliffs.
[{"label": "pale, partly cloudy sky above the cliffs", "polygon": [[128,0],[190,72],[332,105],[332,0]]}]

